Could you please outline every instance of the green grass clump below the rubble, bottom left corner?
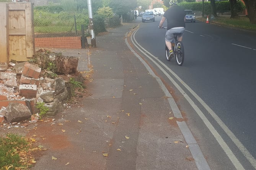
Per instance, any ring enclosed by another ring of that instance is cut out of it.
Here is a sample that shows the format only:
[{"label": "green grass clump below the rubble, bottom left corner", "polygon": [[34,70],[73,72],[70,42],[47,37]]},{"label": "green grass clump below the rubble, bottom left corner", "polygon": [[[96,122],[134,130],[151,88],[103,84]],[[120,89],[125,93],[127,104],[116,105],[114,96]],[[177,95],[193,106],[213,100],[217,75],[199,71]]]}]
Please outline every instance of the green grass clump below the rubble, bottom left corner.
[{"label": "green grass clump below the rubble, bottom left corner", "polygon": [[11,165],[8,170],[24,167],[22,161],[20,162],[19,152],[28,148],[26,139],[18,134],[8,133],[5,138],[0,138],[0,170],[5,170]]}]

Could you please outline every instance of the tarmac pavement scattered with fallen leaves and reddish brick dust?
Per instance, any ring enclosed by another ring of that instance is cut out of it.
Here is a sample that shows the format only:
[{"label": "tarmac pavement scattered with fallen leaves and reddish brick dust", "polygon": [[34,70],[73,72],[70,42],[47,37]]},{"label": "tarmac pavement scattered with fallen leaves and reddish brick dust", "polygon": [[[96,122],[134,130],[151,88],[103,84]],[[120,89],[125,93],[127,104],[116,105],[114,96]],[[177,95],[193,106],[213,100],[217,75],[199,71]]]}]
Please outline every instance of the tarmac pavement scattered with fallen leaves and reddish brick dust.
[{"label": "tarmac pavement scattered with fallen leaves and reddish brick dust", "polygon": [[62,49],[79,55],[79,71],[92,66],[92,95],[30,131],[47,148],[33,170],[197,169],[168,97],[126,45],[138,23],[97,36],[95,49]]}]

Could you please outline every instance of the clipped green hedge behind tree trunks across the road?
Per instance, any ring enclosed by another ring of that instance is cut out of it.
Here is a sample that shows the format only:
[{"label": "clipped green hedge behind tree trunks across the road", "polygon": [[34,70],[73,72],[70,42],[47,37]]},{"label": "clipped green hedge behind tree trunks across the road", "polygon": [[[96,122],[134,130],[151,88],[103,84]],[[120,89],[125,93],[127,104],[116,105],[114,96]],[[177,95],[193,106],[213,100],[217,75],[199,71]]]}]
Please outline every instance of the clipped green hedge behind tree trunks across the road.
[{"label": "clipped green hedge behind tree trunks across the road", "polygon": [[[180,6],[183,6],[185,10],[193,10],[193,11],[202,11],[202,2],[181,2]],[[216,11],[217,13],[224,13],[230,11],[230,3],[229,1],[215,1]],[[240,13],[245,9],[245,5],[238,0],[236,4],[236,12]],[[204,2],[204,13],[206,15],[211,13],[211,4],[210,2]]]}]

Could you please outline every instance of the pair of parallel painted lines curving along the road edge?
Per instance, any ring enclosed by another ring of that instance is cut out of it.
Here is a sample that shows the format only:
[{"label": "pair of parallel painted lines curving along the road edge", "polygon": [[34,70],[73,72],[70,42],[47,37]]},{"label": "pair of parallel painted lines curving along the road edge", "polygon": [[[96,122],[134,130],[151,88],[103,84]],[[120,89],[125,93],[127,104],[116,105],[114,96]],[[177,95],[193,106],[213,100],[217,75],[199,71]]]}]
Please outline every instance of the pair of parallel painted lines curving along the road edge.
[{"label": "pair of parallel painted lines curving along the road edge", "polygon": [[[168,71],[170,71],[170,73],[176,78],[178,79],[178,81],[183,84],[183,86],[188,89],[188,91],[202,104],[203,107],[205,107],[205,109],[210,113],[210,115],[215,119],[215,121],[218,123],[218,125],[221,126],[221,128],[225,131],[225,133],[230,137],[230,139],[232,139],[232,141],[235,143],[235,145],[238,147],[238,149],[240,149],[240,151],[243,153],[243,155],[246,157],[246,159],[248,159],[248,161],[251,163],[251,165],[256,168],[256,160],[254,159],[254,157],[249,153],[249,151],[246,149],[245,146],[243,146],[243,144],[238,140],[238,138],[236,138],[235,134],[232,133],[231,130],[229,130],[229,128],[225,125],[225,123],[223,123],[222,120],[220,120],[220,118],[216,115],[216,113],[186,84],[184,83],[184,81],[178,77],[177,74],[175,74],[170,68],[168,68],[163,62],[161,62],[157,57],[155,57],[154,55],[152,55],[150,52],[148,52],[147,50],[145,50],[141,45],[139,45],[139,43],[135,40],[135,34],[139,29],[137,29],[134,32],[134,41],[136,42],[136,44],[140,47],[140,49],[143,49],[147,54],[151,55],[153,58],[155,58],[155,60],[157,60],[159,63],[161,63],[161,65],[163,65]],[[135,45],[135,44],[134,44]],[[137,49],[139,49],[139,47],[135,45],[137,47]],[[139,50],[140,50],[139,49]],[[141,52],[143,52],[142,50],[140,50]],[[144,53],[144,52],[143,52]],[[237,168],[237,169],[244,169],[243,166],[241,165],[241,163],[239,162],[239,160],[235,157],[235,155],[233,154],[233,152],[231,151],[231,149],[227,146],[226,142],[222,139],[222,137],[220,136],[220,134],[218,134],[218,132],[215,130],[215,128],[212,126],[212,124],[209,122],[209,120],[207,120],[207,118],[204,116],[204,114],[202,113],[202,111],[196,106],[196,104],[194,104],[194,102],[188,97],[188,95],[183,91],[183,89],[181,89],[181,87],[173,80],[173,78],[171,78],[171,76],[169,74],[166,73],[165,70],[163,70],[163,68],[161,66],[158,65],[158,63],[155,62],[155,60],[153,60],[151,57],[149,57],[148,55],[146,55],[153,63],[155,63],[155,65],[158,66],[158,68],[160,68],[160,70],[170,79],[170,81],[176,86],[176,88],[181,92],[181,94],[183,94],[183,96],[186,98],[186,100],[188,100],[189,104],[194,108],[194,110],[197,112],[197,114],[201,117],[201,119],[204,121],[205,125],[209,128],[209,130],[211,131],[211,133],[215,136],[216,140],[218,141],[218,143],[220,144],[220,146],[222,147],[222,149],[225,151],[225,153],[228,155],[229,159],[232,161],[233,165]]]}]

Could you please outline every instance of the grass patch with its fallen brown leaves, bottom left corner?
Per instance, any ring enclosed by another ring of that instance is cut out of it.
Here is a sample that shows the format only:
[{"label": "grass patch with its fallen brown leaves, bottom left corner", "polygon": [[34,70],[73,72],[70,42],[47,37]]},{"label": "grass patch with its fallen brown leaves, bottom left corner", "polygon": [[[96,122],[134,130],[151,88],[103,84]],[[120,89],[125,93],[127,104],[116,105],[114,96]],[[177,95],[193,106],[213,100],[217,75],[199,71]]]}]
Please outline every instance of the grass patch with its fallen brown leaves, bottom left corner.
[{"label": "grass patch with its fallen brown leaves, bottom left corner", "polygon": [[0,170],[26,170],[31,167],[34,160],[28,157],[30,146],[28,139],[18,134],[8,133],[0,138]]}]

